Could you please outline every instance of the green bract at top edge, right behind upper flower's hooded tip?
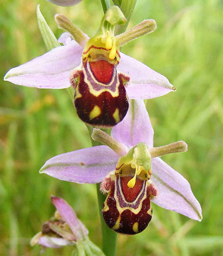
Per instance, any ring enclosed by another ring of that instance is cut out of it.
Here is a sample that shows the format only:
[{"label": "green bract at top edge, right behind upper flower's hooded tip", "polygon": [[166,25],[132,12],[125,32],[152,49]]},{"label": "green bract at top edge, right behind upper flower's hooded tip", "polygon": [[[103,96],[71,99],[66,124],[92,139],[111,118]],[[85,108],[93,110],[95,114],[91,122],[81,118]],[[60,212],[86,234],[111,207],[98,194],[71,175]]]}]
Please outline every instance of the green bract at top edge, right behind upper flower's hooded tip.
[{"label": "green bract at top edge, right behind upper flower's hooded tip", "polygon": [[131,0],[131,1],[130,0],[122,0],[120,9],[123,12],[123,14],[125,15],[125,18],[127,19],[127,21],[126,21],[125,25],[118,25],[116,27],[116,30],[115,30],[116,35],[123,33],[126,30],[126,28],[128,27],[129,21],[132,17],[133,10],[135,8],[136,1],[137,0]]}]

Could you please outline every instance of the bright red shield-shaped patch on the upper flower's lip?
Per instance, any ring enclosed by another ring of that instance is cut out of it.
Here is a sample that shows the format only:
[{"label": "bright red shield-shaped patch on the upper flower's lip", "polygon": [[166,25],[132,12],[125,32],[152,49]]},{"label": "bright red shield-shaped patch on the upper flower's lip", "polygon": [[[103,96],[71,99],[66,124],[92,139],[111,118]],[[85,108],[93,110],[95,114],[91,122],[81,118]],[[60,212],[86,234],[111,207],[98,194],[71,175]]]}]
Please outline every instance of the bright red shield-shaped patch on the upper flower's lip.
[{"label": "bright red shield-shaped patch on the upper flower's lip", "polygon": [[101,83],[111,81],[114,65],[106,60],[91,61],[90,67],[94,77]]}]

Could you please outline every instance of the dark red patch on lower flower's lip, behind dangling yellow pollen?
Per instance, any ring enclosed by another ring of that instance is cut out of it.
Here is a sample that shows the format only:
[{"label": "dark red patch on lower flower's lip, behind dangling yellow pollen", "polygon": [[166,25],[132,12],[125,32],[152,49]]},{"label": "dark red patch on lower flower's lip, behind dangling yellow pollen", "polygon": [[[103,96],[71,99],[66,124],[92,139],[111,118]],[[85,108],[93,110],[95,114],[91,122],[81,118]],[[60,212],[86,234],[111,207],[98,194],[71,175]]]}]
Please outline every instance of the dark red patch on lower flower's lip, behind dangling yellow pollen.
[{"label": "dark red patch on lower flower's lip, behind dangling yellow pollen", "polygon": [[131,178],[130,176],[121,178],[122,192],[128,202],[133,202],[136,199],[143,185],[143,180],[137,178],[134,187],[129,188],[127,184]]}]

